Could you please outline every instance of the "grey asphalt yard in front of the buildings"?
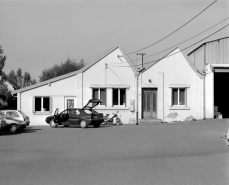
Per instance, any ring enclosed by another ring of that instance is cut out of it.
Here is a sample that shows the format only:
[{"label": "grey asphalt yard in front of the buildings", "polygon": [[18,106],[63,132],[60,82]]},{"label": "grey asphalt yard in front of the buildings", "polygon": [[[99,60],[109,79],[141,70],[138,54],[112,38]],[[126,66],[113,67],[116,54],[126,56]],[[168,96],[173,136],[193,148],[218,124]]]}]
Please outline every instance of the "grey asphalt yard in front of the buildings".
[{"label": "grey asphalt yard in front of the buildings", "polygon": [[1,185],[227,185],[229,122],[0,132]]}]

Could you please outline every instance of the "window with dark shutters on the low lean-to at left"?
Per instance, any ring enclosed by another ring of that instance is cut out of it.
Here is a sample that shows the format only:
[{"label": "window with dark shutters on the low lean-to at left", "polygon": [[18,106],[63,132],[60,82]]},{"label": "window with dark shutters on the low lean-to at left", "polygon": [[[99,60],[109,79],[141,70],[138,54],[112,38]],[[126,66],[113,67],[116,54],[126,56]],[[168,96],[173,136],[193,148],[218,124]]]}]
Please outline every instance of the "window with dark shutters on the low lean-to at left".
[{"label": "window with dark shutters on the low lean-to at left", "polygon": [[34,97],[34,112],[51,111],[50,97]]}]

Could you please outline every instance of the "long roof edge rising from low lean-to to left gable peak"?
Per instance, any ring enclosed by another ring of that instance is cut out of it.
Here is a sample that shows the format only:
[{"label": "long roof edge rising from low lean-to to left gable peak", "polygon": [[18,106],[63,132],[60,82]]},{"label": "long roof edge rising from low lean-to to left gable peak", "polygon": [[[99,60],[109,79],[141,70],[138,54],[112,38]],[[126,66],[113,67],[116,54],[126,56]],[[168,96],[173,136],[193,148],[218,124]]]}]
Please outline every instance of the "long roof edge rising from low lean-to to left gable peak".
[{"label": "long roof edge rising from low lean-to to left gable peak", "polygon": [[[95,59],[92,63],[88,64],[88,65],[85,65],[83,68],[77,70],[77,71],[74,71],[74,72],[71,72],[71,73],[68,73],[68,74],[65,74],[65,75],[61,75],[61,76],[58,76],[58,77],[55,77],[55,78],[52,78],[50,80],[46,80],[46,81],[43,81],[43,82],[39,82],[37,84],[34,84],[34,85],[31,85],[31,86],[27,86],[27,87],[24,87],[24,88],[21,88],[21,89],[18,89],[18,90],[15,90],[15,91],[12,91],[11,94],[16,94],[16,93],[19,93],[19,92],[24,92],[24,91],[28,91],[28,90],[31,90],[31,89],[35,89],[37,87],[41,87],[41,86],[44,86],[44,85],[47,85],[49,83],[53,83],[53,82],[56,82],[56,81],[60,81],[60,80],[63,80],[65,78],[69,78],[69,77],[72,77],[72,76],[75,76],[79,73],[83,73],[85,72],[87,69],[89,69],[90,67],[92,67],[93,65],[95,65],[97,62],[99,62],[100,60],[102,60],[104,57],[106,57],[107,55],[109,55],[110,53],[112,53],[113,51],[115,51],[116,49],[120,49],[121,52],[122,52],[122,49],[121,49],[121,46],[115,46],[115,47],[112,47],[111,49],[109,49],[108,51],[106,51],[105,53],[103,53],[100,57],[98,57],[97,59]],[[127,60],[127,59],[126,59]],[[129,60],[127,60],[127,62],[129,63]]]}]

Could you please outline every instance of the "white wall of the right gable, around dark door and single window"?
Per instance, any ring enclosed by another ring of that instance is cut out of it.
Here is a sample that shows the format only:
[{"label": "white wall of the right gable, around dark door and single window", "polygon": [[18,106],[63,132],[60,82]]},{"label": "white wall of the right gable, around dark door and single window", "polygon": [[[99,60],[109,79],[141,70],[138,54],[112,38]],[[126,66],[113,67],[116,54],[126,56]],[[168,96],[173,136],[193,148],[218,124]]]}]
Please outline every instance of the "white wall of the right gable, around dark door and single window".
[{"label": "white wall of the right gable, around dark door and single window", "polygon": [[[178,52],[176,49],[173,53]],[[149,83],[149,79],[152,83]],[[171,86],[188,86],[187,107],[171,107]],[[142,74],[142,84],[139,87],[139,99],[141,99],[142,88],[157,88],[157,116],[165,122],[183,121],[188,116],[196,119],[203,118],[203,81],[193,71],[182,53],[167,57],[150,67]],[[164,87],[164,95],[163,95]],[[139,114],[142,118],[141,102]],[[169,118],[170,113],[177,113],[176,118]],[[163,116],[164,115],[164,116]]]}]

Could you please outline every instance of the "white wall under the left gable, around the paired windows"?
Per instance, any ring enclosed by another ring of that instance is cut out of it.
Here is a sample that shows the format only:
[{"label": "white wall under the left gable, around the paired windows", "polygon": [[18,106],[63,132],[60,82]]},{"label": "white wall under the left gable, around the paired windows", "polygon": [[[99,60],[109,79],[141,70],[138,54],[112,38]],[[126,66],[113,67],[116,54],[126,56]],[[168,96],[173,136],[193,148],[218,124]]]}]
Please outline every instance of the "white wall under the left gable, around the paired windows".
[{"label": "white wall under the left gable, around the paired windows", "polygon": [[[134,73],[129,67],[115,67],[127,66],[124,57],[117,57],[123,55],[119,48],[114,50],[109,55],[105,56],[99,62],[94,64],[91,68],[83,73],[83,104],[92,98],[92,87],[105,87],[107,89],[107,106],[97,106],[98,112],[105,114],[112,114],[119,110],[118,115],[124,124],[129,123],[131,118],[134,118],[134,113],[130,111],[130,99],[134,98]],[[124,62],[124,63],[123,63]],[[106,65],[108,66],[107,69]],[[126,106],[113,107],[112,106],[112,87],[125,87],[126,90]]]}]

